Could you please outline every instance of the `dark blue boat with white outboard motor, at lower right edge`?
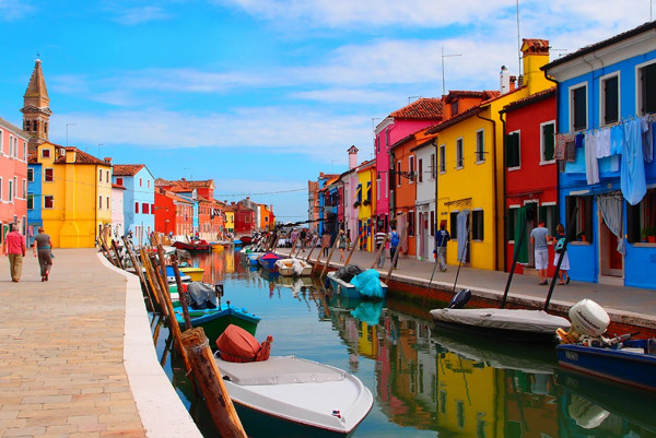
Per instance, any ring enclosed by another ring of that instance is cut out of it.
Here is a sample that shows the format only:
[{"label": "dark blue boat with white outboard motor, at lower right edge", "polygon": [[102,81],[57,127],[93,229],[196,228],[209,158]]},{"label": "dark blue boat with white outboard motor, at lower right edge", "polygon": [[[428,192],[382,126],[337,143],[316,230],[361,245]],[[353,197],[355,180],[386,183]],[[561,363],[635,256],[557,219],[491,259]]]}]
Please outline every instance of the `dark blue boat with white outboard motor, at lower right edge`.
[{"label": "dark blue boat with white outboard motor, at lower right edge", "polygon": [[563,368],[656,391],[656,340],[626,340],[612,347],[561,344],[558,363]]}]

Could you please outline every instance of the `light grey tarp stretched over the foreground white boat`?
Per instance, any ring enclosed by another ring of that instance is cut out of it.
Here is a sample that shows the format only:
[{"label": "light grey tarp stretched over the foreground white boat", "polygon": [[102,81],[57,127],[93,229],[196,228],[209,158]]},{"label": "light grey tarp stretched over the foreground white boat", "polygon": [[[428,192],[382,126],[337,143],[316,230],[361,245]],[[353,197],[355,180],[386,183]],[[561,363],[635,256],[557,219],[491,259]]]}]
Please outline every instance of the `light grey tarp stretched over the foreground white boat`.
[{"label": "light grey tarp stretched over the foreground white boat", "polygon": [[235,384],[288,384],[340,381],[345,371],[295,356],[273,356],[266,362],[236,364],[216,359],[221,374]]}]

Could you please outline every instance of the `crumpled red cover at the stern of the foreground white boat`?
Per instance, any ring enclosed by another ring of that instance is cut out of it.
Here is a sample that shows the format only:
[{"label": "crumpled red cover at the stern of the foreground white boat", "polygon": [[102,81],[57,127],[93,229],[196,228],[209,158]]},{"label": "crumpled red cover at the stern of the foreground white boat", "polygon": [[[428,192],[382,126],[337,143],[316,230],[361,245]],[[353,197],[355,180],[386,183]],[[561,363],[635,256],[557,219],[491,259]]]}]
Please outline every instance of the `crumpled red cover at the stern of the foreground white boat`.
[{"label": "crumpled red cover at the stern of the foreground white boat", "polygon": [[226,362],[245,363],[267,360],[273,336],[260,345],[255,336],[238,325],[230,324],[216,340],[221,358]]}]

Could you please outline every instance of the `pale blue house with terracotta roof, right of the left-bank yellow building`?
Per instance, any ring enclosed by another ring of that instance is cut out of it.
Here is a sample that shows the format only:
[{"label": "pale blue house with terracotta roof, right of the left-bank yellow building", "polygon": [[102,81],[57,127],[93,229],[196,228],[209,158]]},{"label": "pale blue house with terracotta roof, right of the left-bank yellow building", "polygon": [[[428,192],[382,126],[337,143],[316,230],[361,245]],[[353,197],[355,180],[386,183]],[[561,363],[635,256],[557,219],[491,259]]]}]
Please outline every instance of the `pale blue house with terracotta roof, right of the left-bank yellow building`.
[{"label": "pale blue house with terracotta roof, right of the left-bank yellow building", "polygon": [[124,221],[126,234],[143,244],[155,230],[155,179],[143,164],[115,164],[112,181],[126,188]]}]

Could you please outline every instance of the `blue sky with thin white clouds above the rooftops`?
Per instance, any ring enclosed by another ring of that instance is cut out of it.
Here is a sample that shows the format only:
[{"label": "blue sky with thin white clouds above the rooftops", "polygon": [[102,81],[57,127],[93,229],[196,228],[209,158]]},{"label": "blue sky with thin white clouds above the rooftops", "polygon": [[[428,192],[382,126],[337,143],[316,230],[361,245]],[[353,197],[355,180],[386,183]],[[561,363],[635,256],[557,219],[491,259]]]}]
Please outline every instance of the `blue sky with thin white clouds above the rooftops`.
[{"label": "blue sky with thin white clouds above the rooftops", "polygon": [[[213,178],[279,220],[307,181],[373,154],[372,127],[417,96],[497,90],[518,70],[516,0],[0,0],[0,117],[22,126],[34,60],[50,140],[166,179]],[[552,59],[651,20],[651,0],[519,1]],[[656,11],[654,11],[656,13]],[[68,128],[67,128],[68,126]],[[266,193],[266,194],[258,194]]]}]

